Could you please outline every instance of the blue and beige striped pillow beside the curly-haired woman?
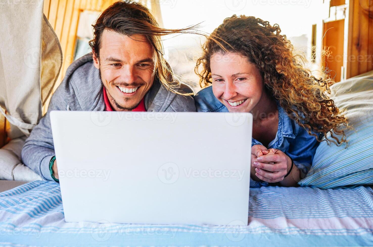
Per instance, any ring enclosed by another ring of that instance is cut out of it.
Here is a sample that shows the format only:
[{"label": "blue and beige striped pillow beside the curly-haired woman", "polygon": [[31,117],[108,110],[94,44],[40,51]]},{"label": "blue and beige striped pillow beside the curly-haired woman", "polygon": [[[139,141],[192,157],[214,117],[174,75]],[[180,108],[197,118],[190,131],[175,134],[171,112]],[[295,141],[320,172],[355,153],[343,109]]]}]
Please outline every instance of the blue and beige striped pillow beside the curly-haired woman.
[{"label": "blue and beige striped pillow beside the curly-haired woman", "polygon": [[330,97],[336,106],[346,110],[344,114],[353,129],[345,131],[347,145],[320,143],[312,167],[299,185],[328,189],[373,184],[372,72],[330,87]]}]

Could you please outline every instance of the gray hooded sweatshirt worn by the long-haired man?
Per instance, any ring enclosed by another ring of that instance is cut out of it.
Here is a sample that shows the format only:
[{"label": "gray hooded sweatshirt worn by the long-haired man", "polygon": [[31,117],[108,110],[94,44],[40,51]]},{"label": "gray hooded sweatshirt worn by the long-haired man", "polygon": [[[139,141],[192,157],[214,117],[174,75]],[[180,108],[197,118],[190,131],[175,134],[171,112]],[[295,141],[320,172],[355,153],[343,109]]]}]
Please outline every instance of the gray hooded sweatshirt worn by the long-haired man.
[{"label": "gray hooded sweatshirt worn by the long-haired man", "polygon": [[[183,93],[192,90],[185,85],[178,89]],[[195,112],[194,99],[167,90],[159,80],[144,98],[148,112]],[[53,137],[49,113],[52,110],[104,111],[103,84],[99,71],[93,65],[92,53],[74,61],[66,71],[66,76],[51,97],[48,111],[26,139],[22,148],[23,164],[34,170],[43,179],[53,180],[49,163],[54,156]]]}]

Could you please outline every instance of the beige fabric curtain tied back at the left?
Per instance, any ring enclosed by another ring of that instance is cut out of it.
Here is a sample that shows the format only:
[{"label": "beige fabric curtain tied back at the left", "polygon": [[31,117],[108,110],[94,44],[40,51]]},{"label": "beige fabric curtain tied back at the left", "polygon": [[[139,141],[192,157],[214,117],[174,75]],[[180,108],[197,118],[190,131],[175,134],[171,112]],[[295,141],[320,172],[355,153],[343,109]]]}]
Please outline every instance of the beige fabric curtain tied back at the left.
[{"label": "beige fabric curtain tied back at the left", "polygon": [[62,51],[43,15],[43,1],[2,4],[0,12],[0,113],[10,122],[13,139],[28,136],[41,118]]}]

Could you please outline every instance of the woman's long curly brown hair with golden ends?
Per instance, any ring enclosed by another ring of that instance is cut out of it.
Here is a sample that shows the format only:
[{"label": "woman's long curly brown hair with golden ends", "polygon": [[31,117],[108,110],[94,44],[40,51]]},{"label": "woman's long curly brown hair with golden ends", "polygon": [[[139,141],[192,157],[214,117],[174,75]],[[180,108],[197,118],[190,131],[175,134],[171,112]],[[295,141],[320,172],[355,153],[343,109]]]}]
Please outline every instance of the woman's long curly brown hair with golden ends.
[{"label": "woman's long curly brown hair with golden ends", "polygon": [[[233,52],[244,55],[260,70],[266,90],[308,134],[322,141],[347,142],[344,130],[347,118],[328,97],[334,80],[321,73],[320,78],[305,68],[305,57],[295,54],[278,24],[254,16],[226,18],[203,45],[203,55],[197,60],[195,72],[201,87],[211,85],[210,58],[213,54]],[[202,65],[202,66],[201,66]],[[338,128],[337,128],[338,127]],[[330,137],[326,134],[330,131]],[[338,138],[340,137],[340,138]]]}]

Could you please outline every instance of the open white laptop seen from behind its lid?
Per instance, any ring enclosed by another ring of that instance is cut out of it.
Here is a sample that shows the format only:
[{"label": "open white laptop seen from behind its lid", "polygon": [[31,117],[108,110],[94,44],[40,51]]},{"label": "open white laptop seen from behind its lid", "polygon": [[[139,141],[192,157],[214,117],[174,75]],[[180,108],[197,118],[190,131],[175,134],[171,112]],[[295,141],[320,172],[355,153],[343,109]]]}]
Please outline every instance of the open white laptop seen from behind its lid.
[{"label": "open white laptop seen from behind its lid", "polygon": [[247,225],[250,113],[52,111],[66,222]]}]

